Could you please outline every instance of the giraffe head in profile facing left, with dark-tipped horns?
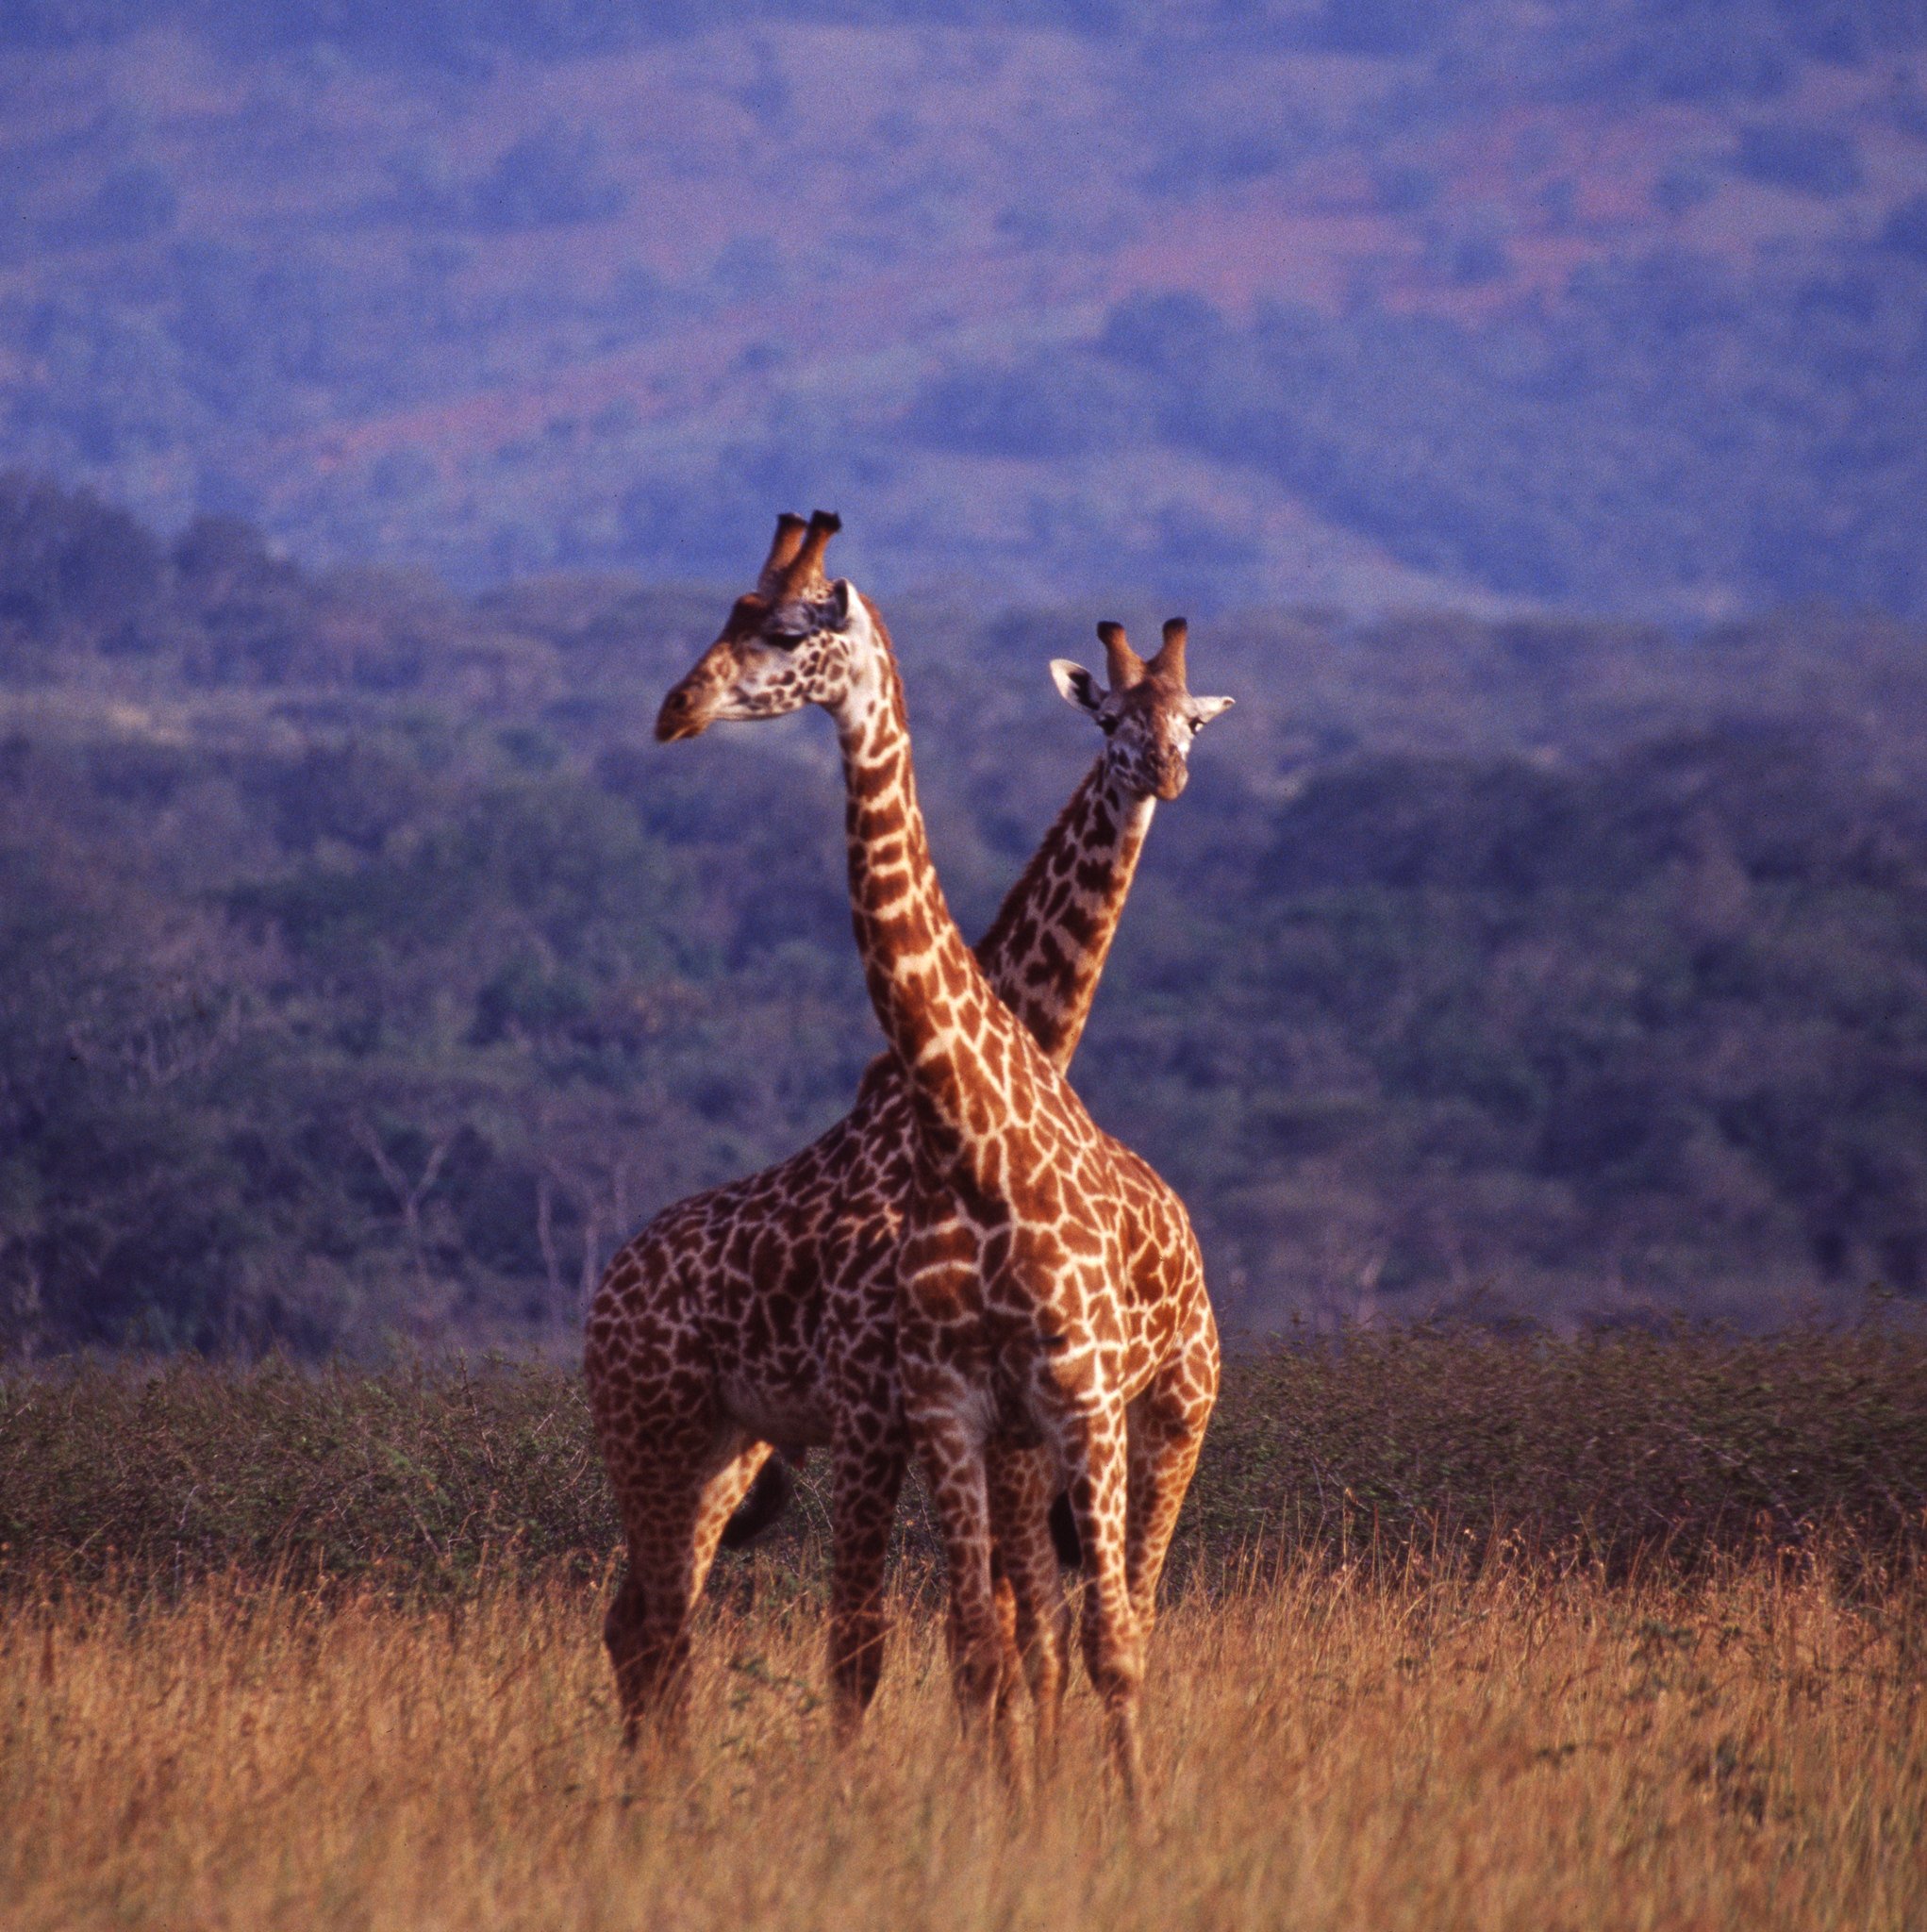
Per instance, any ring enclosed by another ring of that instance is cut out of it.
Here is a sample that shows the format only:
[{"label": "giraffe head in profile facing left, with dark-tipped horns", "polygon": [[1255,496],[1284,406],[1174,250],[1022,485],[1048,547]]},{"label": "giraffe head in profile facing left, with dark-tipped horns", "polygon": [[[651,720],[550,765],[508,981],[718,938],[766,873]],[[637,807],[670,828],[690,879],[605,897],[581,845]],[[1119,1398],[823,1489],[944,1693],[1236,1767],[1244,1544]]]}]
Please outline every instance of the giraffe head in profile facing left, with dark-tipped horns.
[{"label": "giraffe head in profile facing left, with dark-tipped horns", "polygon": [[757,587],[738,597],[722,636],[662,699],[656,738],[693,738],[718,719],[772,719],[803,705],[836,709],[871,670],[871,620],[848,580],[823,574],[842,518],[776,518]]}]

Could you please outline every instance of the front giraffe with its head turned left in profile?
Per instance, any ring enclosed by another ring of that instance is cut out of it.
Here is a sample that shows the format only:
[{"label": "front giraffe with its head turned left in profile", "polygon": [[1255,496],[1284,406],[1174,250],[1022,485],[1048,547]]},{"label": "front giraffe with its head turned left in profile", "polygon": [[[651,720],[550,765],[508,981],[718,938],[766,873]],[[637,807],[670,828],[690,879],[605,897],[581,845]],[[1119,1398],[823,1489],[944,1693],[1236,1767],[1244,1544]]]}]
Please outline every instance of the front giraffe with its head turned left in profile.
[{"label": "front giraffe with its head turned left in profile", "polygon": [[[998,1466],[1012,1451],[1043,1449],[1083,1549],[1085,1669],[1133,1797],[1145,1634],[1216,1399],[1203,1262],[1184,1204],[1099,1130],[958,933],[931,864],[888,630],[848,580],[823,574],[840,527],[832,514],[811,518],[780,578],[738,603],[668,694],[656,736],[807,703],[836,724],[857,951],[915,1119],[896,1368],[942,1526],[965,1735],[998,1729],[1006,1683]],[[1182,680],[1184,649],[1174,630],[1143,682]],[[1151,798],[1184,786],[1172,746],[1205,711],[1189,703],[1199,709],[1180,713],[1170,738],[1145,746]]]}]

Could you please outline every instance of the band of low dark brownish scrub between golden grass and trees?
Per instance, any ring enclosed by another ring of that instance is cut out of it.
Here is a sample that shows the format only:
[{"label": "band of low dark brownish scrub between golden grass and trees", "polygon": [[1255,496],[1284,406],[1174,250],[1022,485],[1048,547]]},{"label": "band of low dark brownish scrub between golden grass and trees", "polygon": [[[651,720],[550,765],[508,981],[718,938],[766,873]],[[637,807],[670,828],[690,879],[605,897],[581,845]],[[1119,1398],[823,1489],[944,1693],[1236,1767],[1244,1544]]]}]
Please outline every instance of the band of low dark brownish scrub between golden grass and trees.
[{"label": "band of low dark brownish scrub between golden grass and trees", "polygon": [[[1927,1337],[1892,1320],[1761,1341],[1388,1329],[1243,1347],[1174,1577],[1255,1565],[1525,1565],[1616,1582],[1927,1551]],[[722,1592],[819,1602],[821,1470]],[[902,1586],[938,1561],[906,1513]],[[0,1598],[178,1594],[210,1577],[461,1604],[489,1578],[595,1580],[620,1534],[579,1378],[523,1362],[382,1374],[172,1362],[0,1378]]]}]

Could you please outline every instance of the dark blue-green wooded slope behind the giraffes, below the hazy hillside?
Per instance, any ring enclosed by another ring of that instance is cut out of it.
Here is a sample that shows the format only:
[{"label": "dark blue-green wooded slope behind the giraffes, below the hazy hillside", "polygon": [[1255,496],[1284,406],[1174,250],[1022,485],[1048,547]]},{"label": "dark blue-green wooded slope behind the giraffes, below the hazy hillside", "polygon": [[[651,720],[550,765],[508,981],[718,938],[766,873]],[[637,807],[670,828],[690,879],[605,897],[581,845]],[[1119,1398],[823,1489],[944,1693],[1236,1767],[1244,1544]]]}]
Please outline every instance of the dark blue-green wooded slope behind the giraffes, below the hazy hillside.
[{"label": "dark blue-green wooded slope behind the giraffes, below the hazy hillside", "polygon": [[[844,1111],[823,721],[649,742],[726,597],[307,572],[0,479],[0,1343],[568,1337],[651,1211]],[[1166,612],[888,601],[971,931],[1095,755],[1045,663],[1099,614]],[[1075,1080],[1226,1320],[1927,1293],[1923,645],[1197,624],[1240,703]]]}]

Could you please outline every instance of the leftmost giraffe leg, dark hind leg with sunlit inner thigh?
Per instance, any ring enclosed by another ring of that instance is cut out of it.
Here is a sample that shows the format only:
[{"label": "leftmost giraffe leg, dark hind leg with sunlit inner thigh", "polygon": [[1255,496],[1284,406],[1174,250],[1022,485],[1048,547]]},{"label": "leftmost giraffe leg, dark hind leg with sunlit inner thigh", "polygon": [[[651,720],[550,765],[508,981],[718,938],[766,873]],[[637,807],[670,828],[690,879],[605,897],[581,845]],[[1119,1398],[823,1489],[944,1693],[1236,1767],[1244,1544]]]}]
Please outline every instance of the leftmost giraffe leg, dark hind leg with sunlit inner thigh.
[{"label": "leftmost giraffe leg, dark hind leg with sunlit inner thigh", "polygon": [[722,1528],[768,1453],[768,1443],[732,1434],[701,1463],[639,1457],[622,1472],[629,1573],[602,1621],[602,1640],[616,1671],[626,1745],[641,1739],[645,1723],[664,1741],[682,1737],[695,1600]]}]

